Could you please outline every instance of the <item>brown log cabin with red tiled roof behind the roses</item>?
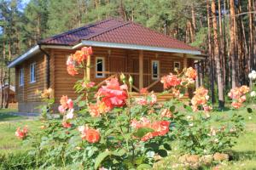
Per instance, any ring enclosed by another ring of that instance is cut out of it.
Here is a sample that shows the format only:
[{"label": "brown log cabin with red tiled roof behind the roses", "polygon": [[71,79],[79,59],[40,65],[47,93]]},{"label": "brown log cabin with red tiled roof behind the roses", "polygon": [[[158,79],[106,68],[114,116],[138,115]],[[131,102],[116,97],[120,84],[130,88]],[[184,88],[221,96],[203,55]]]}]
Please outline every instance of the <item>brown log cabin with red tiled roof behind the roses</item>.
[{"label": "brown log cabin with red tiled roof behind the roses", "polygon": [[193,66],[203,59],[198,48],[131,21],[108,19],[46,38],[13,60],[16,99],[20,112],[35,112],[41,104],[37,90],[53,88],[56,103],[62,95],[73,99],[73,85],[82,75],[67,74],[67,56],[91,46],[90,81],[101,83],[120,72],[134,78],[133,90],[161,92],[160,77],[174,67]]}]

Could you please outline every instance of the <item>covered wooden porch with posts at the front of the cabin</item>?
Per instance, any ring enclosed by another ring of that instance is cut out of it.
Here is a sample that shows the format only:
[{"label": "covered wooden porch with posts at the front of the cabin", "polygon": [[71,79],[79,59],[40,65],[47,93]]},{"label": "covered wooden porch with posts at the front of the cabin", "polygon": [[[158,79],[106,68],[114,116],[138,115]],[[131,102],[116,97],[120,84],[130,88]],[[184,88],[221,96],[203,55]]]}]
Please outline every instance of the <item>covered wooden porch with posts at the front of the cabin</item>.
[{"label": "covered wooden porch with posts at the front of the cabin", "polygon": [[188,58],[187,54],[119,48],[94,49],[94,54],[87,60],[87,78],[101,86],[106,80],[123,73],[125,77],[133,78],[133,92],[147,88],[148,91],[160,93],[164,90],[160,77],[174,72],[175,67],[183,70],[184,67],[194,65],[194,59]]}]

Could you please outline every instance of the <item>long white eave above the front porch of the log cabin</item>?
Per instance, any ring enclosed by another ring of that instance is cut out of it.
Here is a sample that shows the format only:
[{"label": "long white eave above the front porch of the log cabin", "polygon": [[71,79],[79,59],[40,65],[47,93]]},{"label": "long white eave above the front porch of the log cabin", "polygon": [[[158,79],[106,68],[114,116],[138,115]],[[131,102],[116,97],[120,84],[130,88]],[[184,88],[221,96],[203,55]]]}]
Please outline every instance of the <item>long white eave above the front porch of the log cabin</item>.
[{"label": "long white eave above the front porch of the log cabin", "polygon": [[96,41],[86,41],[82,40],[79,44],[74,45],[73,49],[80,48],[82,46],[96,46],[102,48],[124,48],[124,49],[138,49],[147,51],[158,51],[158,52],[168,52],[177,54],[191,54],[191,55],[201,55],[199,50],[189,50],[189,49],[178,49],[178,48],[160,48],[153,46],[143,46],[128,43],[115,43],[115,42],[96,42]]}]

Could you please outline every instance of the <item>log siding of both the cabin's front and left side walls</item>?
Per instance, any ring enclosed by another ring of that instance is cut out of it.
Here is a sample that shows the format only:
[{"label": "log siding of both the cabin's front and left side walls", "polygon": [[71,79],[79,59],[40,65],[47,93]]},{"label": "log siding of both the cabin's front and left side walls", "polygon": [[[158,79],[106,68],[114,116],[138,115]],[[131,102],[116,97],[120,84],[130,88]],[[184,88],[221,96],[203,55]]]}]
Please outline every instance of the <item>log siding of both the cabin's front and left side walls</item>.
[{"label": "log siding of both the cabin's front and left side walls", "polygon": [[[74,83],[83,77],[83,73],[72,77],[67,74],[67,57],[73,54],[75,50],[67,49],[49,49],[50,54],[50,88],[54,89],[55,102],[58,103],[62,95],[67,95],[72,99],[76,99],[77,94],[74,93]],[[105,71],[119,71],[119,72],[139,72],[138,50],[127,50],[119,48],[93,48],[93,55],[90,59],[90,81],[100,83],[111,75],[106,74],[103,78],[96,77],[96,57],[105,59]],[[160,77],[173,72],[173,65],[175,61],[180,62],[181,69],[183,69],[183,57],[170,53],[156,53],[150,51],[143,51],[143,86],[148,87],[156,80],[149,75],[152,72],[152,60],[159,60],[160,63]],[[29,65],[36,62],[36,82],[30,83]],[[188,59],[188,65],[192,66],[194,60]],[[19,85],[19,71],[24,68],[24,85]],[[22,65],[15,68],[15,82],[16,82],[16,99],[18,102],[37,102],[40,101],[37,90],[44,90],[46,88],[46,56],[40,54],[32,59],[26,60]],[[134,85],[138,88],[138,75],[132,76],[134,78]],[[160,82],[154,85],[154,92],[161,92],[163,86]]]}]

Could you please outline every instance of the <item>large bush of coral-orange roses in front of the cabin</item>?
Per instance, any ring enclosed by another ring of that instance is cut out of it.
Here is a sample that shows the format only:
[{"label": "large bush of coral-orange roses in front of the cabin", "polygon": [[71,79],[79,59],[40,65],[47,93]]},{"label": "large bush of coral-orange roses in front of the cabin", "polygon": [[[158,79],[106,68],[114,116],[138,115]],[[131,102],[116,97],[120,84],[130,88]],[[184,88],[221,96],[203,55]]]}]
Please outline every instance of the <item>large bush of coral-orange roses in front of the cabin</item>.
[{"label": "large bush of coral-orange roses in front of the cabin", "polygon": [[[60,117],[47,111],[41,131],[30,135],[27,130],[17,130],[17,136],[26,136],[26,142],[33,146],[30,154],[45,160],[41,168],[147,169],[168,155],[173,141],[178,141],[184,153],[203,155],[232,146],[232,138],[241,132],[241,116],[230,116],[229,124],[212,124],[218,117],[209,113],[212,106],[207,89],[195,90],[192,107],[189,101],[180,100],[194,86],[193,68],[162,77],[164,94],[174,97],[157,102],[157,94],[145,88],[141,89],[142,97],[133,96],[132,77],[123,74],[101,87],[87,80],[90,54],[91,48],[82,48],[67,59],[67,72],[75,76],[83,69],[84,78],[74,85],[77,99],[61,97]],[[53,99],[49,95],[45,99],[49,110]]]}]

